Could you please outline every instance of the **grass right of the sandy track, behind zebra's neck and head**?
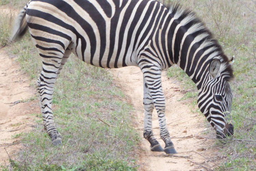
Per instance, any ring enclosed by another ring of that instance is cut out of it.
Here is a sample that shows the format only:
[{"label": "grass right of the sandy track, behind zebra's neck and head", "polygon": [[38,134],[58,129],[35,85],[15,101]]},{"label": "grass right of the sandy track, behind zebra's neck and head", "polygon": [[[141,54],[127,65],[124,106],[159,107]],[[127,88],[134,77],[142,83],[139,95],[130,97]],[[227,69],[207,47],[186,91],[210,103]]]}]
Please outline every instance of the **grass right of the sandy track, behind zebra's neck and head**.
[{"label": "grass right of the sandy track, behind zebra's neck and head", "polygon": [[[196,11],[206,22],[225,54],[235,56],[235,80],[230,83],[234,95],[231,112],[234,121],[232,138],[252,140],[233,140],[225,144],[216,142],[223,156],[218,159],[220,168],[216,170],[253,170],[256,168],[256,3],[231,0],[193,2],[180,1]],[[174,66],[168,70],[168,75],[176,77],[182,88],[188,91],[181,100],[190,100],[196,105],[197,90],[184,71]]]}]

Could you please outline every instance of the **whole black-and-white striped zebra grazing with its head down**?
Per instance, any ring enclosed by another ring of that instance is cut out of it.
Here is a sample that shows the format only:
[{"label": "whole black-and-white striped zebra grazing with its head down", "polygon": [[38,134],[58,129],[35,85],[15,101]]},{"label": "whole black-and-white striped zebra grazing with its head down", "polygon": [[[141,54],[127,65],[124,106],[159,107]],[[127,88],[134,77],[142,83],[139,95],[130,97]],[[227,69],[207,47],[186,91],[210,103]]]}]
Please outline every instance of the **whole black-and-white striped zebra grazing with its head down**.
[{"label": "whole black-and-white striped zebra grazing with its head down", "polygon": [[[17,17],[11,41],[27,28],[43,62],[37,81],[44,128],[61,143],[52,113],[54,83],[71,53],[102,68],[138,66],[143,73],[143,136],[152,151],[176,153],[165,117],[161,72],[177,64],[198,88],[198,107],[218,138],[233,134],[230,60],[191,11],[155,0],[31,0]],[[154,138],[156,109],[163,149]]]}]

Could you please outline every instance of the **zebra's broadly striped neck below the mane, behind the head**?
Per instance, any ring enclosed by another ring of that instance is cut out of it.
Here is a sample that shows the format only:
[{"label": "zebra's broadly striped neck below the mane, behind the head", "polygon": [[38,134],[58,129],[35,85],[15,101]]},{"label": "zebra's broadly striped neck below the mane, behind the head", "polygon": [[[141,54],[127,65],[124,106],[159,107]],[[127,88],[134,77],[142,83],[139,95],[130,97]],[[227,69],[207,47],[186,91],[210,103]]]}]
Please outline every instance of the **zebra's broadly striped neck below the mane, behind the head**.
[{"label": "zebra's broadly striped neck below the mane, behind the head", "polygon": [[[170,38],[172,41],[168,42],[168,47],[172,47],[169,48],[170,61],[183,69],[199,90],[203,82],[209,78],[208,68],[212,58],[218,56],[219,52],[215,51],[216,47],[211,46],[211,42],[207,46],[195,43],[197,38],[186,35],[186,32],[179,31],[176,34],[176,36],[169,35],[172,37]],[[208,49],[205,50],[205,47]]]}]

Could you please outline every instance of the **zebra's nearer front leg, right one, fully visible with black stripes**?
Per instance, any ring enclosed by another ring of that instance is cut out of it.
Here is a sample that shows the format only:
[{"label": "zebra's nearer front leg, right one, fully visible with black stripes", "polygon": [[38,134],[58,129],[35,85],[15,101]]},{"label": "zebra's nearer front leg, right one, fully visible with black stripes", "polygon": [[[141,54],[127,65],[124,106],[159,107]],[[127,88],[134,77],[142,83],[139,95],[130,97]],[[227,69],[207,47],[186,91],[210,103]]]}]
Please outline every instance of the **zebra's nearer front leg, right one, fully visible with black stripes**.
[{"label": "zebra's nearer front leg, right one, fully visible with black stripes", "polygon": [[[153,102],[153,105],[158,114],[160,138],[165,142],[165,148],[163,149],[163,151],[167,154],[177,153],[171,141],[170,133],[168,131],[167,124],[166,124],[165,96],[163,94],[162,83],[161,83],[161,70],[157,66],[148,64],[148,63],[144,63],[144,65],[141,66],[141,70],[142,70],[143,78],[145,82],[144,88],[148,90],[148,97],[145,97],[145,98],[152,99],[151,103]],[[145,108],[145,116],[148,116],[146,115],[146,108]],[[152,115],[151,115],[151,120],[152,120]],[[147,123],[151,124],[150,122],[147,122]],[[152,127],[152,124],[151,124],[151,127]],[[149,135],[149,137],[152,137],[151,136],[151,134],[153,135],[153,132],[151,133],[152,129],[148,129],[148,130],[149,131],[147,131],[147,134]]]}]

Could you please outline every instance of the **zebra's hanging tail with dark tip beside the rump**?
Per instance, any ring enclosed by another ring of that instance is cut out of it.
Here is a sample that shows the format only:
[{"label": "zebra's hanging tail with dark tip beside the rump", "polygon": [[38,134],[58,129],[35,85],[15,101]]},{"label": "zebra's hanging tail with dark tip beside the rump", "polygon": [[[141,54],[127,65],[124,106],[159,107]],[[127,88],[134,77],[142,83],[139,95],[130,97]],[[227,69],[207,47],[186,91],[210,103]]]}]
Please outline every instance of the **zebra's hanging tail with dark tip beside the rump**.
[{"label": "zebra's hanging tail with dark tip beside the rump", "polygon": [[24,6],[24,8],[19,12],[19,15],[15,19],[15,23],[12,29],[12,35],[9,39],[9,44],[22,38],[23,35],[28,30],[28,25],[26,21],[26,12],[27,12],[29,3],[30,1],[27,3],[26,6]]}]

